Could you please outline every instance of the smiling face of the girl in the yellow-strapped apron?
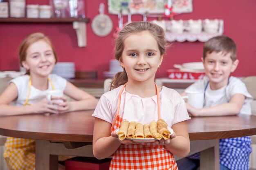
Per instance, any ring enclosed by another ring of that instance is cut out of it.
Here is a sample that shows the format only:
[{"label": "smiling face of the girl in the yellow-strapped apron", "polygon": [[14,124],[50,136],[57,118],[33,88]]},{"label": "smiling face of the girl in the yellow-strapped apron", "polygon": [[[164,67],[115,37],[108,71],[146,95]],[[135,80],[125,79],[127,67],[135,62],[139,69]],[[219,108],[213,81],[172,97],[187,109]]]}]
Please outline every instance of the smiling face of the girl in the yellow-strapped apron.
[{"label": "smiling face of the girl in the yellow-strapped apron", "polygon": [[27,49],[26,60],[22,62],[31,75],[47,77],[53,70],[56,59],[52,47],[44,40],[39,40]]}]

